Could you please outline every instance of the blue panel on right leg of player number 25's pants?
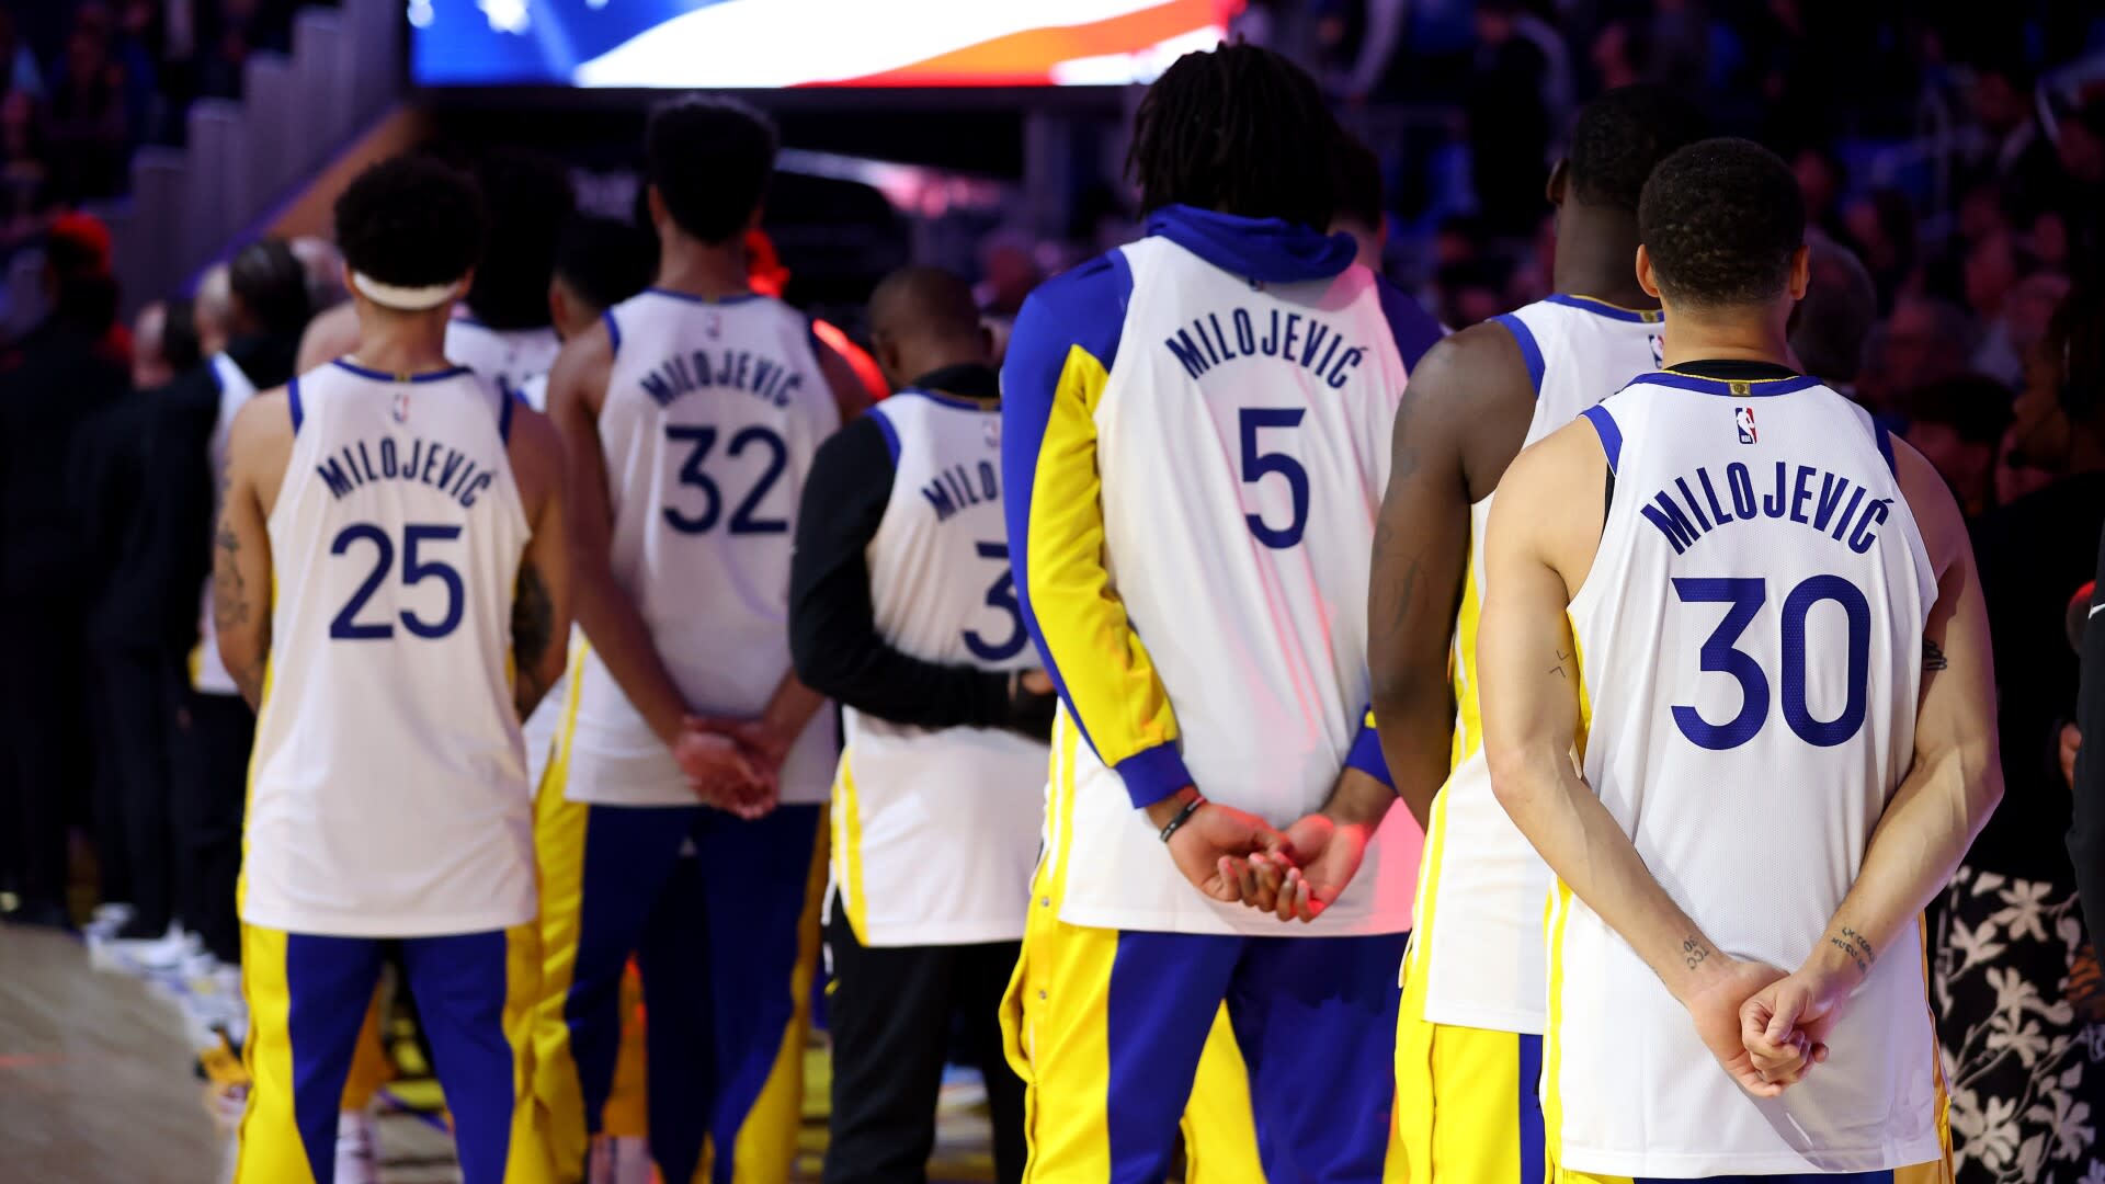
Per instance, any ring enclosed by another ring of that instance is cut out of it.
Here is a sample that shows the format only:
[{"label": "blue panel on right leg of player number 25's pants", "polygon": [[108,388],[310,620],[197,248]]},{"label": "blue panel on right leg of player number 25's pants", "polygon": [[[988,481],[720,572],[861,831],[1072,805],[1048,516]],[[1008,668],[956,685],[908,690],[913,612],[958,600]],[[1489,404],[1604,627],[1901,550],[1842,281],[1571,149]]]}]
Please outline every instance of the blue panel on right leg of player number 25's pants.
[{"label": "blue panel on right leg of player number 25's pants", "polygon": [[512,1148],[509,959],[503,929],[402,942],[463,1180],[503,1180]]}]

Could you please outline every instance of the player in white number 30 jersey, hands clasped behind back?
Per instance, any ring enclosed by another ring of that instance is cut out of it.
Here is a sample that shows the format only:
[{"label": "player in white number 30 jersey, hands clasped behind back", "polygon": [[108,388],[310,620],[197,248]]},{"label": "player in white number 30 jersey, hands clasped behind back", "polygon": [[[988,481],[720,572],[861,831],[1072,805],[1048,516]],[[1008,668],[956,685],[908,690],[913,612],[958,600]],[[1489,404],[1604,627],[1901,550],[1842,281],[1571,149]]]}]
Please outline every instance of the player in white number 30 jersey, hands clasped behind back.
[{"label": "player in white number 30 jersey, hands clasped behind back", "polygon": [[1684,147],[1638,228],[1665,369],[1522,453],[1486,544],[1492,790],[1558,876],[1549,1161],[1949,1180],[1918,919],[2002,794],[1966,527],[1789,369],[1783,160]]}]

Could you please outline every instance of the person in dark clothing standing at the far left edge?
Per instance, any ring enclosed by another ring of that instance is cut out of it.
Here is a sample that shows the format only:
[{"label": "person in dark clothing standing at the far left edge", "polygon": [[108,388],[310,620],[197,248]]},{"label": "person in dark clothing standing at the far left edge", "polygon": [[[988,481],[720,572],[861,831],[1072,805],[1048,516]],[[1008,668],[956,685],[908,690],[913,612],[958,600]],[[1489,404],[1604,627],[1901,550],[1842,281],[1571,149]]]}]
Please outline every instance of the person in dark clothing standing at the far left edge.
[{"label": "person in dark clothing standing at the far left edge", "polygon": [[46,316],[0,358],[0,887],[11,921],[67,925],[65,824],[84,784],[82,600],[88,550],[67,497],[80,426],[122,396],[112,356],[107,240],[55,232],[44,244]]}]

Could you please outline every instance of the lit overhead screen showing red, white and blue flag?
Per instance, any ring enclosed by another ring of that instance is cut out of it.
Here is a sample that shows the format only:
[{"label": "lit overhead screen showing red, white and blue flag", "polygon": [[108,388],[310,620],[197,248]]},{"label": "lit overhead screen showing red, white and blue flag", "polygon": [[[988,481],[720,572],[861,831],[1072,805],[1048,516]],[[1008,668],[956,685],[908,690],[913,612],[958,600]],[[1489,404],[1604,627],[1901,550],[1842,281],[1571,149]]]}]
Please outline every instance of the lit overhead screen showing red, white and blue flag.
[{"label": "lit overhead screen showing red, white and blue flag", "polygon": [[408,0],[423,86],[1118,86],[1240,0]]}]

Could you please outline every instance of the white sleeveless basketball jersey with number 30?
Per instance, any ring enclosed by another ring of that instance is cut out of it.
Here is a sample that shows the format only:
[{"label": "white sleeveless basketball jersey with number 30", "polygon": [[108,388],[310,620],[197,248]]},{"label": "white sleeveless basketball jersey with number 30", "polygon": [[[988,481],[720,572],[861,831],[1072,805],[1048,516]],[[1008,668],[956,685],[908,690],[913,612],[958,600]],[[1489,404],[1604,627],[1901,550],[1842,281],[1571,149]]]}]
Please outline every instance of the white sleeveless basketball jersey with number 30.
[{"label": "white sleeveless basketball jersey with number 30", "polygon": [[[1585,777],[1722,952],[1798,967],[1913,761],[1937,586],[1890,442],[1810,377],[1646,375],[1587,417],[1615,499],[1570,605]],[[1560,1165],[1739,1176],[1943,1155],[1916,929],[1880,950],[1827,1064],[1756,1100],[1564,889],[1549,925]]]}]

